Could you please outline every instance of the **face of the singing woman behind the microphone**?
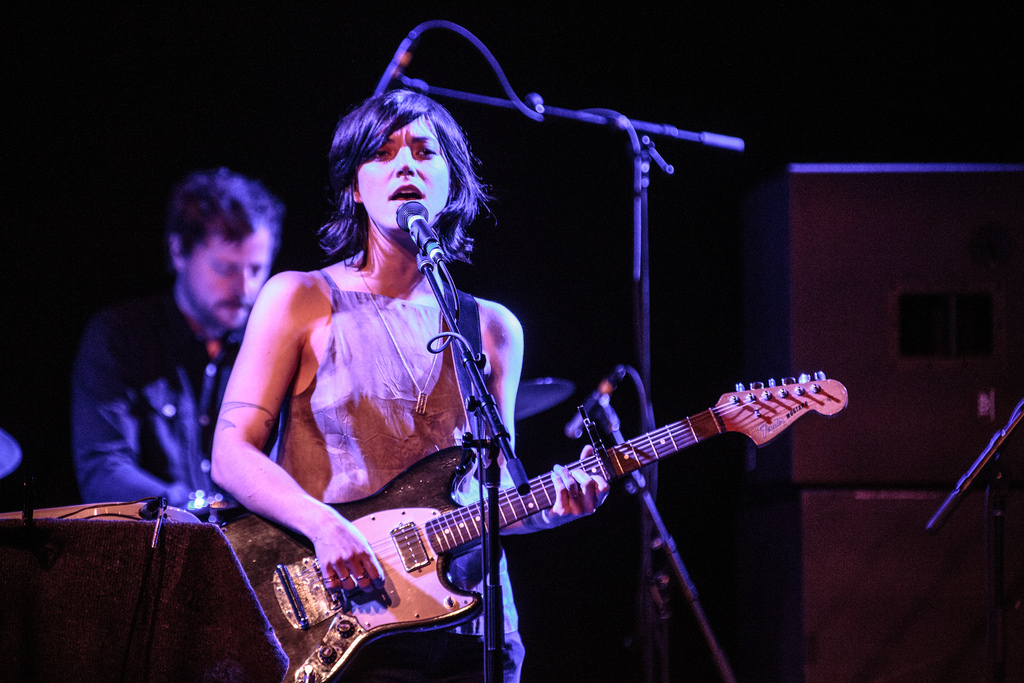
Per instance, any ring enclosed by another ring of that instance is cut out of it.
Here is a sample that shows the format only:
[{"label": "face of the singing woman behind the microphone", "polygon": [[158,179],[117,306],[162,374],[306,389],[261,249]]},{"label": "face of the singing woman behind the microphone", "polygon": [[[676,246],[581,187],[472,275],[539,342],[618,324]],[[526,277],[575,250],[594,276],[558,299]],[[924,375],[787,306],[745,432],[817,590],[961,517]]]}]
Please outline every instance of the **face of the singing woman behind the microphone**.
[{"label": "face of the singing woman behind the microphone", "polygon": [[355,176],[355,201],[382,230],[399,229],[395,212],[406,202],[419,202],[430,222],[447,205],[449,165],[433,126],[419,118],[391,133],[377,155]]}]

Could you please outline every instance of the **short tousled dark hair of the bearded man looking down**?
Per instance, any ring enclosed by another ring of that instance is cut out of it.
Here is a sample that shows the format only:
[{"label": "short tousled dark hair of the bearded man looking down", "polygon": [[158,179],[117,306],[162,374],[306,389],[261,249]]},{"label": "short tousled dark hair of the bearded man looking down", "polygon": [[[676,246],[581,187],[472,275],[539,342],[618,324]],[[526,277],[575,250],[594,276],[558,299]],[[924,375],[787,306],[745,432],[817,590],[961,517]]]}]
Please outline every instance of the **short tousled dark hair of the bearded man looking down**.
[{"label": "short tousled dark hair of the bearded man looking down", "polygon": [[259,180],[226,168],[194,171],[171,191],[166,237],[169,242],[177,236],[181,253],[188,256],[211,236],[239,243],[266,226],[276,253],[284,220],[285,205]]}]

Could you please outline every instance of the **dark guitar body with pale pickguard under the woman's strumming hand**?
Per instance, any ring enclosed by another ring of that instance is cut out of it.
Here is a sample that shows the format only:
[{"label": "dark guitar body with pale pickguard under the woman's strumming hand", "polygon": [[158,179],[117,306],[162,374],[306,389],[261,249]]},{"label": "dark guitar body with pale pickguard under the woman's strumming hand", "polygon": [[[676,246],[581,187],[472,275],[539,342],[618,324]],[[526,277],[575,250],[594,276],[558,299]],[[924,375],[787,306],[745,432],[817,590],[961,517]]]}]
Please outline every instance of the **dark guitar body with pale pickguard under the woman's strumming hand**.
[{"label": "dark guitar body with pale pickguard under the woman's strumming hand", "polygon": [[[423,543],[425,524],[458,507],[447,492],[461,458],[461,447],[438,452],[377,494],[334,506],[377,554],[384,569],[379,594],[334,598],[321,581],[311,544],[262,517],[246,515],[223,527],[288,654],[286,680],[315,674],[309,680],[327,681],[378,637],[450,627],[479,613],[480,597],[453,587],[449,558]],[[437,492],[434,500],[429,492]]]}]

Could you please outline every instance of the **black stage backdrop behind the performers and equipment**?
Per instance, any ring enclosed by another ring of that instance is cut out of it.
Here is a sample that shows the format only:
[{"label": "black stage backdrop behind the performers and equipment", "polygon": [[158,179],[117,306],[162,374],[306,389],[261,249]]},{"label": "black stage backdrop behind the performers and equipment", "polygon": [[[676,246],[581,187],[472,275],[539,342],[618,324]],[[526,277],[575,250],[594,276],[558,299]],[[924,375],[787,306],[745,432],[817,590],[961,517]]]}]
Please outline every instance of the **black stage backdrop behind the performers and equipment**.
[{"label": "black stage backdrop behind the performers and equipment", "polygon": [[[745,140],[736,154],[656,139],[675,167],[672,176],[653,169],[649,187],[659,424],[708,408],[737,381],[828,371],[746,376],[757,340],[743,335],[744,263],[759,254],[743,253],[742,205],[760,181],[790,162],[1024,160],[1024,32],[1009,3],[942,12],[901,3],[393,12],[350,4],[18,2],[5,10],[0,427],[20,442],[25,464],[0,481],[0,507],[20,507],[30,473],[37,506],[78,501],[68,443],[78,337],[97,308],[169,283],[164,205],[184,173],[224,165],[263,179],[288,206],[276,269],[321,263],[314,231],[327,211],[334,125],[372,93],[422,22],[449,19],[476,35],[520,96]],[[423,36],[407,73],[501,95],[484,59],[445,31]],[[442,101],[467,129],[497,198],[475,266],[456,270],[457,282],[522,321],[525,379],[577,385],[570,400],[518,425],[520,458],[540,474],[578,453],[561,433],[575,403],[616,364],[636,364],[627,138]],[[636,403],[627,380],[614,401],[627,436],[639,433]],[[965,454],[965,467],[974,455]],[[741,437],[701,444],[662,465],[658,498],[739,671],[746,652],[737,625],[750,608],[735,587],[744,462]],[[641,656],[630,646],[638,518],[637,502],[615,486],[594,517],[507,541],[526,680],[639,680]],[[678,590],[669,597],[673,680],[718,680],[685,600]]]}]

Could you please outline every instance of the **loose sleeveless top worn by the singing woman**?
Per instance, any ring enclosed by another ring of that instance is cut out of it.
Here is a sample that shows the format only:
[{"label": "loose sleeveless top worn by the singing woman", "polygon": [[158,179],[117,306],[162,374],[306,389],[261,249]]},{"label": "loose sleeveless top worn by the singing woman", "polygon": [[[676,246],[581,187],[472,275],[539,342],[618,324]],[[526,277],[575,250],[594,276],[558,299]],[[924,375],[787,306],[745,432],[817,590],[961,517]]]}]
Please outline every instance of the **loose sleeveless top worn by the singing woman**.
[{"label": "loose sleeveless top worn by the singing woman", "polygon": [[[347,503],[380,490],[425,456],[459,444],[469,419],[451,350],[433,354],[426,348],[438,332],[437,308],[341,290],[321,274],[331,289],[327,350],[313,383],[283,407],[276,461],[318,500]],[[421,389],[425,415],[415,412]],[[472,481],[459,492],[463,505],[475,492]],[[456,557],[449,572],[456,585],[481,592],[479,552]],[[505,631],[512,632],[518,614],[504,554],[500,575]],[[481,633],[479,622],[469,631]]]}]

